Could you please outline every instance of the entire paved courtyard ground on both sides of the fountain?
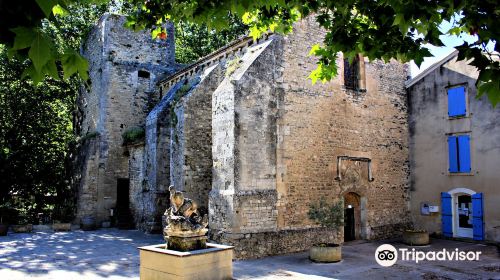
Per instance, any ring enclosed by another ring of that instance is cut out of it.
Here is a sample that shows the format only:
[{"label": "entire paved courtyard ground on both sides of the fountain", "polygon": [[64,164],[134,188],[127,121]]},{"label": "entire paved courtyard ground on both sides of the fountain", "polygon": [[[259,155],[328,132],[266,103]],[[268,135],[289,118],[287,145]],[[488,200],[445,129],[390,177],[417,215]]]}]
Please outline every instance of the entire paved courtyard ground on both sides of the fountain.
[{"label": "entire paved courtyard ground on both sides of the fountain", "polygon": [[[385,268],[374,260],[383,243],[353,242],[343,247],[344,260],[311,263],[307,253],[234,262],[235,279],[500,279],[496,246],[432,240],[418,250],[480,251],[479,261],[398,261]],[[0,279],[138,279],[138,246],[162,242],[160,235],[102,229],[92,232],[36,232],[0,237]]]}]

